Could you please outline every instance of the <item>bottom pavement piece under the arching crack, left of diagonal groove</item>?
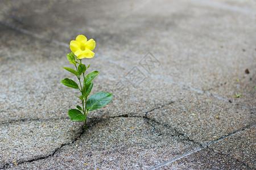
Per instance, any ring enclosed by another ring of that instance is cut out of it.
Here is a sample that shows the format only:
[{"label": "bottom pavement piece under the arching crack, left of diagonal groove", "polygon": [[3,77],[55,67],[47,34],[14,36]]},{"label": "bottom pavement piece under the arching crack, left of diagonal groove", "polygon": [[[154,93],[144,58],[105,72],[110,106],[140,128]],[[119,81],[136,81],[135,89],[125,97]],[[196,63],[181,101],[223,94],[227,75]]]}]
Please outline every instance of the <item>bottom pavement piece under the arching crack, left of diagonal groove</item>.
[{"label": "bottom pavement piece under the arching crack, left of diagonal groove", "polygon": [[197,147],[145,118],[105,118],[53,156],[11,169],[148,169]]}]

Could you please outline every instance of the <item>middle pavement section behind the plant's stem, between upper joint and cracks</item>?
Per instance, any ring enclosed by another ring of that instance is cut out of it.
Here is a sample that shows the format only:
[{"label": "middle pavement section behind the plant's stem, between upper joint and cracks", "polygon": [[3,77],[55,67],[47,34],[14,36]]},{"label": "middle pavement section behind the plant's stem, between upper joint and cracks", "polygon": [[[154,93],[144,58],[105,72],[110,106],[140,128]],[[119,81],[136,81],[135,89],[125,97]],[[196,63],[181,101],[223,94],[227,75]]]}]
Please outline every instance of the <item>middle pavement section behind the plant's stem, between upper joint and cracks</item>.
[{"label": "middle pavement section behind the plant's stem, between upper joint and cracks", "polygon": [[[3,76],[0,78],[0,83],[5,90],[2,91],[0,100],[1,119],[5,121],[30,117],[67,117],[67,108],[80,104],[74,96],[79,95],[77,91],[66,88],[60,83],[65,77],[75,80],[74,76],[61,68],[61,66],[72,67],[65,58],[68,49],[56,46],[53,42],[31,39],[29,35],[9,30],[4,26],[2,32],[0,71]],[[17,44],[21,40],[23,44]],[[30,44],[31,41],[35,43]],[[30,44],[29,47],[27,44]],[[16,47],[11,54],[10,46]],[[92,65],[90,71],[100,71],[97,79],[94,80],[92,92],[109,91],[114,94],[114,99],[102,111],[91,113],[92,117],[130,113],[144,116],[151,109],[175,101],[182,93],[183,96],[187,95],[186,90],[183,90],[184,87],[159,82],[148,73],[143,73],[142,82],[136,83],[137,86],[133,87],[131,83],[134,82],[126,79],[127,73],[133,67],[126,69],[100,57],[96,55],[94,60],[84,61],[87,65],[88,63]],[[139,65],[140,60],[138,59],[136,66],[142,70],[143,67]]]}]

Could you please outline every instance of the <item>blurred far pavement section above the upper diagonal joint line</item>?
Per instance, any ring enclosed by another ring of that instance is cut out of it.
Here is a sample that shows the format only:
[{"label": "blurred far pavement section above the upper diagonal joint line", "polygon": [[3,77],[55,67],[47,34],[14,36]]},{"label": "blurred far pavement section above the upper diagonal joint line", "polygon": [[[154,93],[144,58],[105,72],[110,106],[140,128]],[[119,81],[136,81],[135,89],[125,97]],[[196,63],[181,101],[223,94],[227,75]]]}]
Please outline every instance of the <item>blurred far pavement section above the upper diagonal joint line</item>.
[{"label": "blurred far pavement section above the upper diagonal joint line", "polygon": [[[108,5],[115,9],[111,11],[106,3],[93,1],[24,1],[18,7],[11,4],[6,5],[13,12],[11,16],[3,10],[8,23],[50,41],[69,42],[84,32],[97,41],[97,54],[127,68],[151,51],[163,63],[154,74],[199,90],[208,91],[227,83],[230,87],[245,69],[255,75],[252,1],[109,1]],[[158,8],[148,13],[148,8],[155,6]],[[164,75],[159,74],[163,71]],[[254,76],[251,81],[250,86],[255,86]],[[232,100],[229,92],[213,92]],[[243,95],[251,102],[238,103],[251,107],[253,97]]]}]

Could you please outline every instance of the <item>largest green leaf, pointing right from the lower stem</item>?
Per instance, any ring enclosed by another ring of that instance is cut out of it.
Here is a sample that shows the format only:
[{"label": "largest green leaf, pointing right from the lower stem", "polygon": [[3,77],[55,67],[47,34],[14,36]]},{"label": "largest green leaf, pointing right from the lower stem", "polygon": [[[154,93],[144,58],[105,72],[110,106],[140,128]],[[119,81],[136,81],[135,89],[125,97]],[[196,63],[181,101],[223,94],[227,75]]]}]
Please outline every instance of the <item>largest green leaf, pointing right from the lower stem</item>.
[{"label": "largest green leaf, pointing right from the lower stem", "polygon": [[86,110],[94,111],[98,108],[102,108],[105,105],[109,104],[112,100],[112,94],[108,92],[97,92],[89,97],[86,101]]}]

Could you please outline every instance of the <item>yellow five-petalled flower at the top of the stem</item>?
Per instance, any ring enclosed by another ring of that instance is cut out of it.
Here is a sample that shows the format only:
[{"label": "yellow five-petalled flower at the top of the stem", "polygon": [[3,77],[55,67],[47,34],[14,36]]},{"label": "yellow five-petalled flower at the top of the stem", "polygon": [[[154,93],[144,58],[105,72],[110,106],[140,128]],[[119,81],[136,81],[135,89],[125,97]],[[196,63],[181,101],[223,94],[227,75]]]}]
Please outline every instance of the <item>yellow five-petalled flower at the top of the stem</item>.
[{"label": "yellow five-petalled flower at the top of the stem", "polygon": [[77,58],[93,58],[96,42],[93,39],[87,41],[84,35],[78,35],[76,40],[70,41],[70,49],[77,56]]}]

